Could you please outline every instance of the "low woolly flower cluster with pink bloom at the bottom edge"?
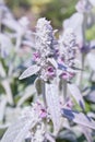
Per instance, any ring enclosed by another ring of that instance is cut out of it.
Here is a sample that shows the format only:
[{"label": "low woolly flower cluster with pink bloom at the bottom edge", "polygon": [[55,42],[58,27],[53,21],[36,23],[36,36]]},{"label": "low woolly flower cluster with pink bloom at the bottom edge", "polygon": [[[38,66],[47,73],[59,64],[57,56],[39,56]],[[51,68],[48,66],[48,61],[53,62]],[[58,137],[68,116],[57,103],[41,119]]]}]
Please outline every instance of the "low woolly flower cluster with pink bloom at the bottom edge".
[{"label": "low woolly flower cluster with pink bloom at the bottom edge", "polygon": [[[47,116],[47,113],[41,105],[40,102],[36,102],[32,104],[32,107],[27,107],[23,110],[22,117],[29,118],[29,121],[32,122],[31,128],[28,128],[29,131],[29,139],[32,139],[32,142],[43,142],[45,139],[45,123],[43,122],[43,119],[45,119]],[[28,121],[27,121],[28,122]]]}]

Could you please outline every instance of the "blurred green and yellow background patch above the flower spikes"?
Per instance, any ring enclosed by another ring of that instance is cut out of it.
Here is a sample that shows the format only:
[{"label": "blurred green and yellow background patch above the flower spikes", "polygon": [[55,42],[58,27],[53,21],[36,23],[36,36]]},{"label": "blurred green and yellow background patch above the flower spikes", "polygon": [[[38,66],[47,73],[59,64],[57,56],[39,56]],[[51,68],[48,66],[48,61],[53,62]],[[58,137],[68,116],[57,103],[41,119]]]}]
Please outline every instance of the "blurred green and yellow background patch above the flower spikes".
[{"label": "blurred green and yellow background patch above the flower spikes", "polygon": [[5,0],[16,17],[23,14],[35,20],[45,16],[52,22],[54,28],[60,28],[62,21],[75,11],[76,0]]}]

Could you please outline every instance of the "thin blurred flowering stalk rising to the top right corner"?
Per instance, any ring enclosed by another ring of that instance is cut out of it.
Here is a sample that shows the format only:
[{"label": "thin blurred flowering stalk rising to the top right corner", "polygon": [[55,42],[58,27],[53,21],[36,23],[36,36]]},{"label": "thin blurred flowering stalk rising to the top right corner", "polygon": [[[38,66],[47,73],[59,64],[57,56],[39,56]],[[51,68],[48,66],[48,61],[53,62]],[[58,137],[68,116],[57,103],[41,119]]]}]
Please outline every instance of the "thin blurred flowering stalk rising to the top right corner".
[{"label": "thin blurred flowering stalk rising to the top right corner", "polygon": [[[85,55],[86,55],[86,38],[85,38],[85,32],[87,28],[87,24],[88,24],[88,19],[90,19],[90,14],[92,14],[92,3],[91,0],[80,0],[76,4],[76,11],[82,13],[83,15],[83,22],[82,22],[82,36],[83,36],[83,43],[82,43],[82,55],[81,55],[81,68],[82,70],[84,70],[84,60],[85,60]],[[92,20],[91,20],[92,23]],[[92,25],[92,24],[91,24]],[[82,86],[82,80],[83,80],[83,71],[80,72],[80,87]]]}]

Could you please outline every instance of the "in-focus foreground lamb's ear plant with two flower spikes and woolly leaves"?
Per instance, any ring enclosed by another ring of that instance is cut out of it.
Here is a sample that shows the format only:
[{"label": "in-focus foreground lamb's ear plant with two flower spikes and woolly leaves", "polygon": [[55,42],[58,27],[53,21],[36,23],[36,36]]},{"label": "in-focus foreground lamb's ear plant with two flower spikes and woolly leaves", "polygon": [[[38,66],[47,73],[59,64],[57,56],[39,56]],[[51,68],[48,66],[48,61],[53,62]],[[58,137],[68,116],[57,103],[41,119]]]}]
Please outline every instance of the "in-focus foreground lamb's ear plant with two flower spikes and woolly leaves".
[{"label": "in-focus foreground lamb's ear plant with two flower spikes and woolly leaves", "polygon": [[[79,71],[75,66],[78,49],[76,35],[72,28],[67,28],[57,40],[50,22],[45,17],[37,21],[34,64],[21,74],[20,80],[36,74],[40,93],[20,119],[8,128],[1,142],[22,142],[27,139],[29,142],[56,142],[63,130],[66,118],[78,123],[87,141],[92,142],[88,128],[95,130],[95,121],[82,111],[73,109],[74,102],[70,95],[72,94],[85,111],[82,94],[72,80]],[[60,80],[66,86],[61,93]]]}]

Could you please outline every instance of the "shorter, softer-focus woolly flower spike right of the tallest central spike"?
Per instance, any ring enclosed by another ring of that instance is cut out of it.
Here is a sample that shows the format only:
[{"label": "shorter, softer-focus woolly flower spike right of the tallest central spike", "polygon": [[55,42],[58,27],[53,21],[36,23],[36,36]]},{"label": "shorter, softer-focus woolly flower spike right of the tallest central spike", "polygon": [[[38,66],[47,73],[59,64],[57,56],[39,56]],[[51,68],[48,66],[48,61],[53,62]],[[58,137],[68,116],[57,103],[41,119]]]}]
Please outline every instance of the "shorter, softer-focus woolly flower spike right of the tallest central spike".
[{"label": "shorter, softer-focus woolly flower spike right of the tallest central spike", "polygon": [[78,51],[76,36],[71,28],[64,31],[59,39],[59,69],[62,70],[61,76],[66,80],[73,78],[75,74],[73,67],[75,66],[75,58]]}]

